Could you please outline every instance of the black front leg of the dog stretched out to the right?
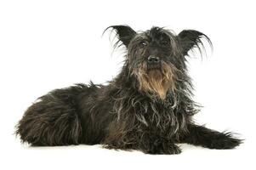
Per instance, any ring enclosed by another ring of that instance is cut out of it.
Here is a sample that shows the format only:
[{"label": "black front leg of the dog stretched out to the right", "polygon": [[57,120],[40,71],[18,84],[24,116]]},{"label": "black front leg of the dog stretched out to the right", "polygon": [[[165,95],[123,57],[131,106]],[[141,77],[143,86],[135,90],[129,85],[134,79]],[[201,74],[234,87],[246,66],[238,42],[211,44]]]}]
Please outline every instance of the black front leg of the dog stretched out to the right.
[{"label": "black front leg of the dog stretched out to the right", "polygon": [[181,143],[201,145],[210,149],[232,149],[242,143],[241,139],[232,137],[232,133],[219,133],[207,127],[188,125],[188,133],[180,139]]}]

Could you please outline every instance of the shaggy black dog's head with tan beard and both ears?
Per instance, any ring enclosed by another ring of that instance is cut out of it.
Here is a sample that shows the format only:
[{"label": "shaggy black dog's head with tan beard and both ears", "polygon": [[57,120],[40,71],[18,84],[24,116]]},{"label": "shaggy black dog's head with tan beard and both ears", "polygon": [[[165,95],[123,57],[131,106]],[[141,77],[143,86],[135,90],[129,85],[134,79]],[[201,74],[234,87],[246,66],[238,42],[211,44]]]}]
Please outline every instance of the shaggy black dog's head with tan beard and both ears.
[{"label": "shaggy black dog's head with tan beard and both ears", "polygon": [[203,47],[200,38],[205,37],[211,45],[210,39],[199,31],[185,30],[176,36],[160,27],[139,32],[129,26],[109,28],[117,32],[116,45],[122,42],[127,48],[129,75],[137,78],[139,90],[160,99],[165,99],[169,90],[177,89],[178,81],[185,75],[188,51]]}]

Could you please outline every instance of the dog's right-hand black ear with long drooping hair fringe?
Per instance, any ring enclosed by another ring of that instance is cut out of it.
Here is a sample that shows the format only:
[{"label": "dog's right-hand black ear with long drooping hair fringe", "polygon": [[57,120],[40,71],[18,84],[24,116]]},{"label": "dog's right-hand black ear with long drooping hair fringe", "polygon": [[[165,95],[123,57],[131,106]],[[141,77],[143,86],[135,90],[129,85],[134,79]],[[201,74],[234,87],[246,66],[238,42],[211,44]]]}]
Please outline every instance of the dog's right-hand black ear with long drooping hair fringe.
[{"label": "dog's right-hand black ear with long drooping hair fringe", "polygon": [[181,45],[181,51],[183,55],[187,55],[189,50],[192,48],[198,48],[200,53],[202,52],[201,48],[205,48],[202,42],[202,38],[205,38],[209,43],[210,47],[213,48],[213,44],[208,36],[203,34],[200,31],[195,30],[184,30],[181,31],[178,35],[179,43]]}]

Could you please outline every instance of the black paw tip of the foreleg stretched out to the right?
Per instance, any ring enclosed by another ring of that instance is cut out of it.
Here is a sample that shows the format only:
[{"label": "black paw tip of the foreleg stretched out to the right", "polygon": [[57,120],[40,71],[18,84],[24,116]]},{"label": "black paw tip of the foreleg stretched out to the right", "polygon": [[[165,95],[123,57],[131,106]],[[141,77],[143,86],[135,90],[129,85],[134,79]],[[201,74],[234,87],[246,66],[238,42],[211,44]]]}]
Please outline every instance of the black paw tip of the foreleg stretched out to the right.
[{"label": "black paw tip of the foreleg stretched out to the right", "polygon": [[232,133],[221,133],[218,138],[213,139],[209,145],[210,149],[227,150],[242,144],[242,139],[232,136]]}]

